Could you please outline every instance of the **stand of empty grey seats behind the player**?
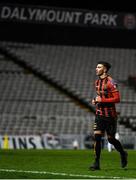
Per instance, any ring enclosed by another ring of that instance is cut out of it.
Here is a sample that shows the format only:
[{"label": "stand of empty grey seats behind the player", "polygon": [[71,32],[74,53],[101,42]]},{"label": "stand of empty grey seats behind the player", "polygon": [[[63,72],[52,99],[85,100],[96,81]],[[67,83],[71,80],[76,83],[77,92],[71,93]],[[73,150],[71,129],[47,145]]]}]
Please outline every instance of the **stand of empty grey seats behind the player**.
[{"label": "stand of empty grey seats behind the player", "polygon": [[[25,68],[21,67],[21,64],[1,53],[1,134],[38,134],[47,131],[88,134],[94,115],[87,106],[83,106],[83,101],[89,104],[95,95],[94,69],[97,61],[103,59],[114,65],[111,73],[121,91],[122,100],[117,105],[119,122],[122,122],[119,131],[126,134],[135,131],[136,92],[127,83],[130,72],[135,74],[135,49],[13,42],[1,42],[1,45],[18,61],[26,64]],[[48,81],[34,72],[48,77]],[[55,82],[57,88],[51,82]],[[78,97],[80,103],[58,87]]]}]

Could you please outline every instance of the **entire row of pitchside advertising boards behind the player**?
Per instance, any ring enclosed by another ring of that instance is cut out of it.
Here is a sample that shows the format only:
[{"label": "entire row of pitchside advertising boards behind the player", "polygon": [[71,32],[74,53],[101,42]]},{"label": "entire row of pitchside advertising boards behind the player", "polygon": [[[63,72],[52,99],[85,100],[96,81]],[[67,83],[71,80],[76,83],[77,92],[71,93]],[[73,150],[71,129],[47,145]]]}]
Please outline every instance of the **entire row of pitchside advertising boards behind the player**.
[{"label": "entire row of pitchside advertising boards behind the player", "polygon": [[[120,134],[120,141],[126,149],[136,149],[136,137]],[[0,136],[1,149],[93,149],[93,136],[78,134]],[[103,139],[103,148],[107,149],[107,139]]]}]

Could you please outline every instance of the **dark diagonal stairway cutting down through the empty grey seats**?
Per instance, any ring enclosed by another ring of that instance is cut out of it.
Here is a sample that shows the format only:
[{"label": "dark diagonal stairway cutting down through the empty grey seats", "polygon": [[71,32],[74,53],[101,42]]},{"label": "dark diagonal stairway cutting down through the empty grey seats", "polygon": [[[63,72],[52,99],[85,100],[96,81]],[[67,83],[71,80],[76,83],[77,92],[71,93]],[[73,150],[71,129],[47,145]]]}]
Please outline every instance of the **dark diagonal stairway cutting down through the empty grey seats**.
[{"label": "dark diagonal stairway cutting down through the empty grey seats", "polygon": [[[0,46],[0,52],[4,54],[7,58],[18,64],[19,66],[23,67],[24,69],[27,69],[29,72],[32,72],[36,77],[40,78],[41,80],[48,82],[52,86],[54,86],[56,89],[62,91],[66,95],[68,95],[73,100],[79,102],[82,104],[85,108],[88,108],[90,112],[95,113],[95,109],[93,106],[90,105],[88,101],[86,101],[84,98],[81,98],[76,93],[71,91],[67,86],[64,84],[61,84],[58,80],[54,79],[54,77],[51,77],[49,74],[43,74],[41,71],[38,71],[38,69],[34,68],[30,64],[27,64],[22,57],[18,57],[15,55],[14,52],[12,52],[12,49],[9,47],[1,45]],[[82,106],[82,107],[83,107]]]}]

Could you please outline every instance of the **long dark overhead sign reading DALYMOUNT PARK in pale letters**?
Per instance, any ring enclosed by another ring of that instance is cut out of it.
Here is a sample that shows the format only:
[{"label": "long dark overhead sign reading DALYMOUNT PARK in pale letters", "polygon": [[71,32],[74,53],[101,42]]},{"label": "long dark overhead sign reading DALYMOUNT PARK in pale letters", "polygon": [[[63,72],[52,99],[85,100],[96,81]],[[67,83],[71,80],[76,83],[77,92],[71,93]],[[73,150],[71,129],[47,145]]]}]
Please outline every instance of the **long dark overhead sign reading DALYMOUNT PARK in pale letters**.
[{"label": "long dark overhead sign reading DALYMOUNT PARK in pale letters", "polygon": [[44,6],[0,4],[0,20],[80,27],[135,29],[133,14]]}]

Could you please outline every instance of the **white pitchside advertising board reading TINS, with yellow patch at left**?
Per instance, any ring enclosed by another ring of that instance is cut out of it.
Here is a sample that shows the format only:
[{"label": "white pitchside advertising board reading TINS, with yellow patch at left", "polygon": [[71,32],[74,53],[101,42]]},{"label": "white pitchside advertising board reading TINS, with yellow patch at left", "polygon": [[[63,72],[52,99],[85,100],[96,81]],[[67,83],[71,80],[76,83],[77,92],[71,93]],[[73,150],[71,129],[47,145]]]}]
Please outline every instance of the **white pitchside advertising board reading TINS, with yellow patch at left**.
[{"label": "white pitchside advertising board reading TINS, with yellow patch at left", "polygon": [[60,149],[59,138],[52,134],[0,136],[1,149]]}]

